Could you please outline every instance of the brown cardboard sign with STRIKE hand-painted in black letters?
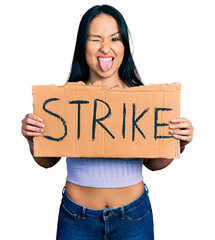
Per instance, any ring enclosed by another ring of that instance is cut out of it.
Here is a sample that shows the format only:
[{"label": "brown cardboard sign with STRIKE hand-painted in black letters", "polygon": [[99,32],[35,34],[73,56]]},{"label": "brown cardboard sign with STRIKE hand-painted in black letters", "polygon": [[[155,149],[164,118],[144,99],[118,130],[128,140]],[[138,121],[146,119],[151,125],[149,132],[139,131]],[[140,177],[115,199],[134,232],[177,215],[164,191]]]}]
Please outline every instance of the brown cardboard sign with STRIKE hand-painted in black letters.
[{"label": "brown cardboard sign with STRIKE hand-painted in black letters", "polygon": [[179,158],[168,125],[180,117],[180,90],[179,83],[111,90],[83,82],[33,86],[34,113],[45,124],[34,138],[34,155]]}]

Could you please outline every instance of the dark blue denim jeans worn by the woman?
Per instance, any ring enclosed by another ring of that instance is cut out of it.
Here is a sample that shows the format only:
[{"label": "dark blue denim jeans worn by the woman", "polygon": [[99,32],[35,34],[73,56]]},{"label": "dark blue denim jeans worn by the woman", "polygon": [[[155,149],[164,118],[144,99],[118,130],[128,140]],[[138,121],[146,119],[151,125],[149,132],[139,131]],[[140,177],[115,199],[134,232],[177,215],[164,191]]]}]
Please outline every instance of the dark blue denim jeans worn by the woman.
[{"label": "dark blue denim jeans worn by the woman", "polygon": [[72,201],[65,188],[60,205],[57,240],[153,240],[154,227],[148,189],[133,202],[91,209]]}]

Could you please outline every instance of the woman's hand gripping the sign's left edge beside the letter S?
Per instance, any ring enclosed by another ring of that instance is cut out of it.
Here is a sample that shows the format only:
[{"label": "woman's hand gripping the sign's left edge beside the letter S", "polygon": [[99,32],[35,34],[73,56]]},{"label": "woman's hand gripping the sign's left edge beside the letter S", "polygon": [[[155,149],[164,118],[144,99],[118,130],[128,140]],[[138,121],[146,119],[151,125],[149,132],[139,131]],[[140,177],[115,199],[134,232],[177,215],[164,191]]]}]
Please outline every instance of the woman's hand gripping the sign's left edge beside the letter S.
[{"label": "woman's hand gripping the sign's left edge beside the letter S", "polygon": [[22,135],[29,141],[33,141],[33,137],[40,136],[44,131],[45,125],[42,119],[33,113],[29,113],[22,120]]}]

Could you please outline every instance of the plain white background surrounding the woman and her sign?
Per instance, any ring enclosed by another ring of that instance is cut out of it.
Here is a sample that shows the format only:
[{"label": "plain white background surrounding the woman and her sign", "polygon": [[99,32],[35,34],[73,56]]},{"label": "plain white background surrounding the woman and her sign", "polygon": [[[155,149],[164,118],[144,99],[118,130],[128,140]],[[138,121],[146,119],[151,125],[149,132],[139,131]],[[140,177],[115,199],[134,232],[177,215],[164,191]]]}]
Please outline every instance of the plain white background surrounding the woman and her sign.
[{"label": "plain white background surrounding the woman and her sign", "polygon": [[143,169],[156,240],[215,239],[214,1],[55,1],[0,3],[0,239],[55,239],[63,158],[43,169],[21,135],[32,112],[31,86],[67,81],[80,18],[95,4],[116,7],[129,26],[145,84],[180,82],[181,116],[194,140],[168,168]]}]

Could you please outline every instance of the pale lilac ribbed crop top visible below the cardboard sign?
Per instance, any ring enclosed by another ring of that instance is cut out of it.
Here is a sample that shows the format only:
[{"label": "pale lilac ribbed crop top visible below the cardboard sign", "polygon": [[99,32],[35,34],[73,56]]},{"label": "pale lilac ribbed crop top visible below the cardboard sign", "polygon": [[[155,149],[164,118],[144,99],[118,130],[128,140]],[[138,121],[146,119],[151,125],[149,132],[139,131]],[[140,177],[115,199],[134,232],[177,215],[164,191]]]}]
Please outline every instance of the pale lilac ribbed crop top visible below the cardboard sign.
[{"label": "pale lilac ribbed crop top visible below the cardboard sign", "polygon": [[66,180],[85,187],[119,188],[143,180],[142,158],[68,157]]}]

